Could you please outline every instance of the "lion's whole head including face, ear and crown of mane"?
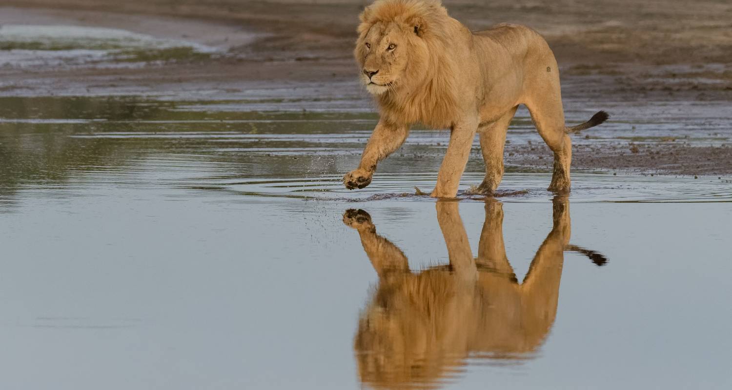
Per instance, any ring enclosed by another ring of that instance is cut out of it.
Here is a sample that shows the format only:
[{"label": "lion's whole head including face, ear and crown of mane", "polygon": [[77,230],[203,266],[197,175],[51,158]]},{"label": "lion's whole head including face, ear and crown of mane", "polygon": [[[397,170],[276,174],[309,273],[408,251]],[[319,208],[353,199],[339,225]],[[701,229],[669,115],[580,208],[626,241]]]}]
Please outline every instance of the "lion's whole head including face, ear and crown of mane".
[{"label": "lion's whole head including face, ear and crown of mane", "polygon": [[381,95],[425,80],[446,18],[436,0],[377,0],[367,7],[354,50],[367,91]]}]

